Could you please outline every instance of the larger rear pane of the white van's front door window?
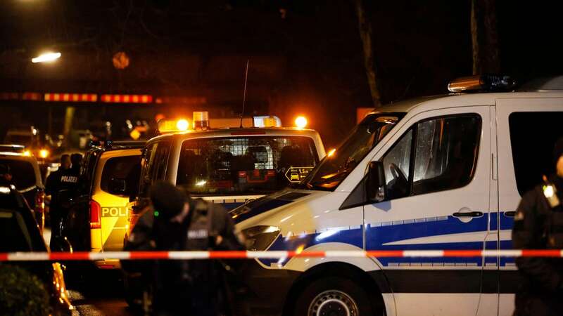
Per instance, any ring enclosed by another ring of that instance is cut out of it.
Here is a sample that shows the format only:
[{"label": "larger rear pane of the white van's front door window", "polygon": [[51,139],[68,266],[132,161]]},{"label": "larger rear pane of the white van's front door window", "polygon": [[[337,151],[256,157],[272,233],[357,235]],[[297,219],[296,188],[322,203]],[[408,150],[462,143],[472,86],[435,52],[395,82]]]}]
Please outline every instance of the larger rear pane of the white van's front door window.
[{"label": "larger rear pane of the white van's front door window", "polygon": [[467,185],[475,171],[480,135],[477,115],[417,124],[412,195]]}]

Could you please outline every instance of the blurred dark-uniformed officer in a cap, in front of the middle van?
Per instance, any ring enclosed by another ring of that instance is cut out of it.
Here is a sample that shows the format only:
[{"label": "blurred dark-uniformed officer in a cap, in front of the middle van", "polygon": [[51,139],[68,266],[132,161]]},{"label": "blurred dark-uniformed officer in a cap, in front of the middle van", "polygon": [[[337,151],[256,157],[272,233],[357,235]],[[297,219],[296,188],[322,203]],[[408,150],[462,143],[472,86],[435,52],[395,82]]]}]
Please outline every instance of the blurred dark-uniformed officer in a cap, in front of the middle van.
[{"label": "blurred dark-uniformed officer in a cap, in front of the middle van", "polygon": [[[170,183],[151,187],[152,207],[139,218],[126,249],[243,250],[231,216],[221,206],[191,199]],[[153,311],[156,315],[224,315],[224,263],[156,261]]]}]

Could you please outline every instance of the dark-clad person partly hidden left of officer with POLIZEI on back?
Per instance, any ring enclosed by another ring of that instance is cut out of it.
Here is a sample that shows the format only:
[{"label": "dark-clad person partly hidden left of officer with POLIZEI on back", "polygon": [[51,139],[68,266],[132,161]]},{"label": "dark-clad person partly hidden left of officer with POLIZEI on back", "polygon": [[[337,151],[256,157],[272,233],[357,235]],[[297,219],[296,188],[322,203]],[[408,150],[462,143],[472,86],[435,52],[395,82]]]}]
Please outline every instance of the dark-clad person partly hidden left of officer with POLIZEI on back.
[{"label": "dark-clad person partly hidden left of officer with POLIZEI on back", "polygon": [[51,223],[51,242],[53,244],[53,237],[61,235],[61,202],[58,197],[59,191],[62,190],[61,178],[63,173],[70,168],[70,156],[68,154],[61,155],[61,166],[57,171],[51,173],[45,181],[45,194],[51,195],[51,202],[49,203],[49,217]]}]

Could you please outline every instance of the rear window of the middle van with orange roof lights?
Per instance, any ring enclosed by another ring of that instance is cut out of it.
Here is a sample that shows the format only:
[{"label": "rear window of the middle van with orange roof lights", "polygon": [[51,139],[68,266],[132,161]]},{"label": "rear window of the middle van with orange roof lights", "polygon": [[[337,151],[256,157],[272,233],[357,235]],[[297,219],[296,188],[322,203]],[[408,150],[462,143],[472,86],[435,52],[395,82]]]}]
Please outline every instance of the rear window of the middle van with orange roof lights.
[{"label": "rear window of the middle van with orange roof lights", "polygon": [[305,136],[185,140],[176,185],[194,195],[267,194],[301,182],[318,160]]}]

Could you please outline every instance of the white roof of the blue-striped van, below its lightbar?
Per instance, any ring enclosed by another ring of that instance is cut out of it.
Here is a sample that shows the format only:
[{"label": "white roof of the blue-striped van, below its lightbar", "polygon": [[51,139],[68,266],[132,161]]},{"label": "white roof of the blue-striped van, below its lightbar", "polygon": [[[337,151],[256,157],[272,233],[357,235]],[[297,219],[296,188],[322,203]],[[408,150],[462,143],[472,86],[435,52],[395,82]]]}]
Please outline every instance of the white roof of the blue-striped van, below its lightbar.
[{"label": "white roof of the blue-striped van, below its lightbar", "polygon": [[[503,92],[503,93],[452,93],[438,96],[425,96],[401,100],[374,109],[377,112],[410,112],[418,106],[427,106],[428,110],[444,107],[467,107],[472,105],[495,105],[500,98],[563,98],[563,91]],[[438,102],[434,102],[438,101]]]}]

